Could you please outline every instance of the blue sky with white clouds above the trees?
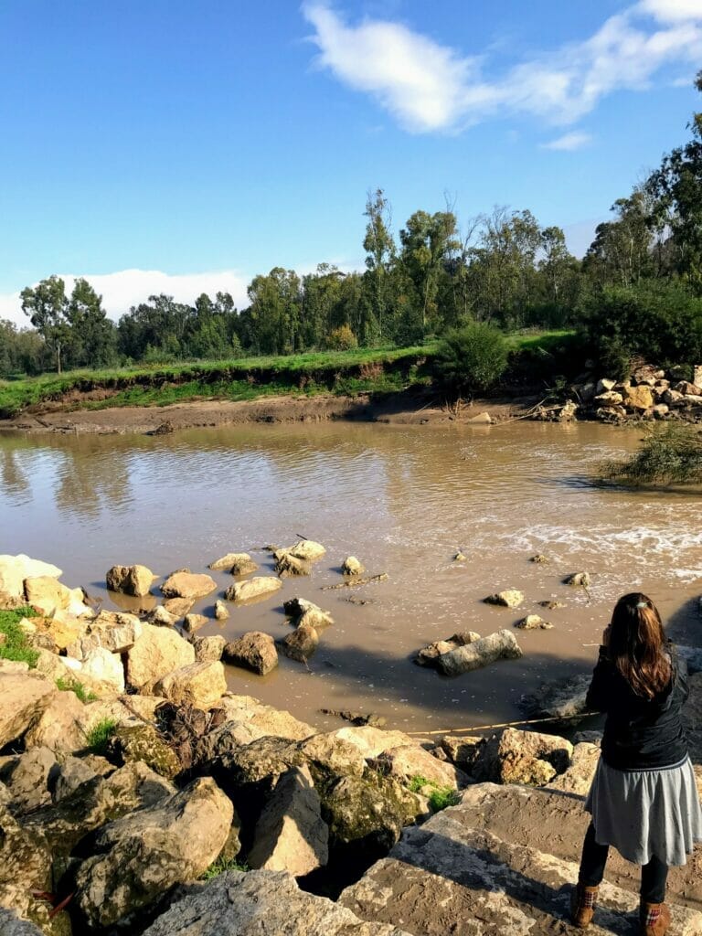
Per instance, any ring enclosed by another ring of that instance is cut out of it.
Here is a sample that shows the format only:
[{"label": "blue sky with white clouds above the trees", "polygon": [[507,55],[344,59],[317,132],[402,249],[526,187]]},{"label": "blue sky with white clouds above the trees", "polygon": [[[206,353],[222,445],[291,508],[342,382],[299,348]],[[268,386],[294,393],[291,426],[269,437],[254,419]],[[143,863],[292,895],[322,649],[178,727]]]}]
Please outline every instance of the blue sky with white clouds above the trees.
[{"label": "blue sky with white clouds above the trees", "polygon": [[282,266],[362,269],[367,193],[494,206],[582,255],[689,139],[702,0],[2,0],[0,318],[86,277],[112,317]]}]

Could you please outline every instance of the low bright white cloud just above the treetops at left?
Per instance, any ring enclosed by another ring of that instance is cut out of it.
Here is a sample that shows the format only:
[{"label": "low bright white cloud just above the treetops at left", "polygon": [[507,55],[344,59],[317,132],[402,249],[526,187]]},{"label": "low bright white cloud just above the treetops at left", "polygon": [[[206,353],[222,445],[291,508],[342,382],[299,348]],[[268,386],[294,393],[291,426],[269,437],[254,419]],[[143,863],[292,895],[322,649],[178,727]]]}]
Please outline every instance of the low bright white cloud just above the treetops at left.
[{"label": "low bright white cloud just above the treetops at left", "polygon": [[[60,274],[66,282],[66,292],[73,288],[75,280],[83,275],[102,296],[103,306],[110,318],[117,319],[132,305],[145,302],[149,296],[166,293],[178,302],[193,302],[200,293],[210,296],[218,291],[231,293],[237,308],[248,305],[247,280],[231,270],[208,273],[170,274],[159,270],[121,270],[115,273]],[[20,293],[0,294],[0,318],[8,318],[18,325],[28,326],[29,319],[22,313]]]}]

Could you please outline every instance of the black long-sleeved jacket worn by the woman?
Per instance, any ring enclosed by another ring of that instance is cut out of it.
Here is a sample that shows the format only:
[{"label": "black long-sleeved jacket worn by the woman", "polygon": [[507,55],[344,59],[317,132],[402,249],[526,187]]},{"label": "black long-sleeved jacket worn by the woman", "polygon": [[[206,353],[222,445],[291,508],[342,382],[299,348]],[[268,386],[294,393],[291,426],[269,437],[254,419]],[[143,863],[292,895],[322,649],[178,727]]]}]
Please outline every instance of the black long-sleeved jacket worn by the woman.
[{"label": "black long-sleeved jacket worn by the woman", "polygon": [[645,770],[678,764],[687,754],[680,709],[689,695],[687,666],[668,645],[673,666],[670,682],[652,699],[636,695],[600,647],[586,704],[607,712],[602,758],[619,770]]}]

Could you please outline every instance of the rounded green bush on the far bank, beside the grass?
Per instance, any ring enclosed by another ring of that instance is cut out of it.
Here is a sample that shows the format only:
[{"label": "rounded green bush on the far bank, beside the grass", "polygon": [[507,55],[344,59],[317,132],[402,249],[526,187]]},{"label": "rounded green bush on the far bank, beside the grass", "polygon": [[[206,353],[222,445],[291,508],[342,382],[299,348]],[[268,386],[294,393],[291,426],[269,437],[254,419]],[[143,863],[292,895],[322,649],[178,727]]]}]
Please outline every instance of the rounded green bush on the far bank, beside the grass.
[{"label": "rounded green bush on the far bank, beside the grass", "polygon": [[505,373],[506,366],[504,335],[480,322],[447,332],[434,359],[440,382],[456,392],[489,390]]}]

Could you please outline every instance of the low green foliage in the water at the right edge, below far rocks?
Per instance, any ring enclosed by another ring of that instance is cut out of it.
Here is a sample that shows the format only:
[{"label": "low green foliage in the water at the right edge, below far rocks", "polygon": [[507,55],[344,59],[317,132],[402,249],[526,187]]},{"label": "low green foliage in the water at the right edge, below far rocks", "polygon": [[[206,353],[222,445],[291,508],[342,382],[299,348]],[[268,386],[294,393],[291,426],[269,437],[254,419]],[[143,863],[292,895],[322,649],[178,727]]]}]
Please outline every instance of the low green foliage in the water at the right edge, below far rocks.
[{"label": "low green foliage in the water at the right edge, below far rocks", "polygon": [[630,458],[603,464],[600,479],[631,485],[702,484],[702,432],[679,422],[654,427]]}]

